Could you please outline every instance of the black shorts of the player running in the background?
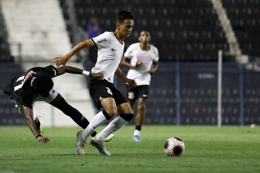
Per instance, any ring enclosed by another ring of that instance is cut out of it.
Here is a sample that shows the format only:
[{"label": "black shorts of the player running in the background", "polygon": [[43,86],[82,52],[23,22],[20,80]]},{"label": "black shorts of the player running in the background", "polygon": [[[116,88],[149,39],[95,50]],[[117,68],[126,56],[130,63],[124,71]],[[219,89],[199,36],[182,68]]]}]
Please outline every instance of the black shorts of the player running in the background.
[{"label": "black shorts of the player running in the background", "polygon": [[149,85],[137,85],[135,88],[133,88],[131,85],[127,85],[126,89],[126,98],[128,100],[135,101],[136,99],[141,97],[148,98]]}]

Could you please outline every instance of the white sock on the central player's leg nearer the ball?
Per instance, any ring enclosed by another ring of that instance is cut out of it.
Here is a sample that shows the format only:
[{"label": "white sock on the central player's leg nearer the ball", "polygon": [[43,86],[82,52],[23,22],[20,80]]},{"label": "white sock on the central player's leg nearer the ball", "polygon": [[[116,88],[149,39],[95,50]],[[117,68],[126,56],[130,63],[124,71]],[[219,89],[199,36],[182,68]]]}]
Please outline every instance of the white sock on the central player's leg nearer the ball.
[{"label": "white sock on the central player's leg nearer the ball", "polygon": [[99,141],[104,141],[114,131],[124,127],[127,123],[128,122],[125,119],[121,118],[120,116],[116,117],[115,119],[113,119],[113,121],[111,121],[107,125],[105,129],[103,129],[99,134],[96,135],[96,139]]}]

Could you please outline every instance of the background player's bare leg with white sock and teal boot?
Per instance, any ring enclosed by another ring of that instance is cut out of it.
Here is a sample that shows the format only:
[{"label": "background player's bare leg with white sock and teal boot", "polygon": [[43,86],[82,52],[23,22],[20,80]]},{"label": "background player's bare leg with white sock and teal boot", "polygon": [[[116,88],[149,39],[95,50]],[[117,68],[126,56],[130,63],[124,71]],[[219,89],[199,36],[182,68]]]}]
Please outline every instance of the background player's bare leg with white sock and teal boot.
[{"label": "background player's bare leg with white sock and teal boot", "polygon": [[137,114],[135,118],[135,131],[134,131],[134,137],[133,141],[134,142],[141,142],[139,136],[141,133],[141,127],[142,123],[144,122],[145,119],[145,106],[146,106],[147,98],[139,98],[137,101]]}]

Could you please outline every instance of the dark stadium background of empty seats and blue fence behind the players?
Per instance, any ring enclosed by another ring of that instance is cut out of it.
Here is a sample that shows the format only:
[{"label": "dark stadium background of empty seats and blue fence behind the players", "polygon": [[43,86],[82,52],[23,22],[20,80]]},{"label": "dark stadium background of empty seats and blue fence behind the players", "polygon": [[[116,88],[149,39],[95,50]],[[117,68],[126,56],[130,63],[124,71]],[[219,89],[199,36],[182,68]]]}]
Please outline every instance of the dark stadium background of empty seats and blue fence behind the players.
[{"label": "dark stadium background of empty seats and blue fence behind the players", "polygon": [[[222,3],[242,54],[248,56],[246,63],[228,53],[223,56],[222,124],[259,124],[260,3]],[[150,32],[151,44],[158,48],[160,59],[152,76],[145,124],[217,124],[218,50],[229,52],[230,44],[211,1],[60,0],[60,6],[73,45],[79,42],[75,28],[85,29],[89,17],[96,16],[103,31],[114,31],[115,16],[121,10],[135,14],[133,32],[124,40],[125,50],[138,42],[140,31]],[[72,20],[72,11],[76,20]],[[25,124],[14,103],[3,94],[10,78],[22,72],[22,68],[10,54],[2,11],[0,21],[0,124]],[[77,60],[83,58],[79,55]],[[94,66],[83,62],[86,69]],[[120,68],[125,73],[128,70]],[[114,84],[125,93],[121,79],[116,78]]]}]

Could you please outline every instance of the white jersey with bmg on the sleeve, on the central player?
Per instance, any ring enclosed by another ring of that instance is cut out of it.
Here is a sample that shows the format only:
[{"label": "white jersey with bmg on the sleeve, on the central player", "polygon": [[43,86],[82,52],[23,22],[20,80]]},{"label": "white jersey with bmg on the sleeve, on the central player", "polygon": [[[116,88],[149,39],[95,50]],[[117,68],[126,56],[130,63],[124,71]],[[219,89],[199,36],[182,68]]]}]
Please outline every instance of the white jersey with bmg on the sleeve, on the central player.
[{"label": "white jersey with bmg on the sleeve, on the central player", "polygon": [[102,72],[104,79],[113,83],[115,70],[123,57],[125,43],[120,42],[114,32],[104,32],[91,40],[97,49],[97,62],[91,72]]}]

